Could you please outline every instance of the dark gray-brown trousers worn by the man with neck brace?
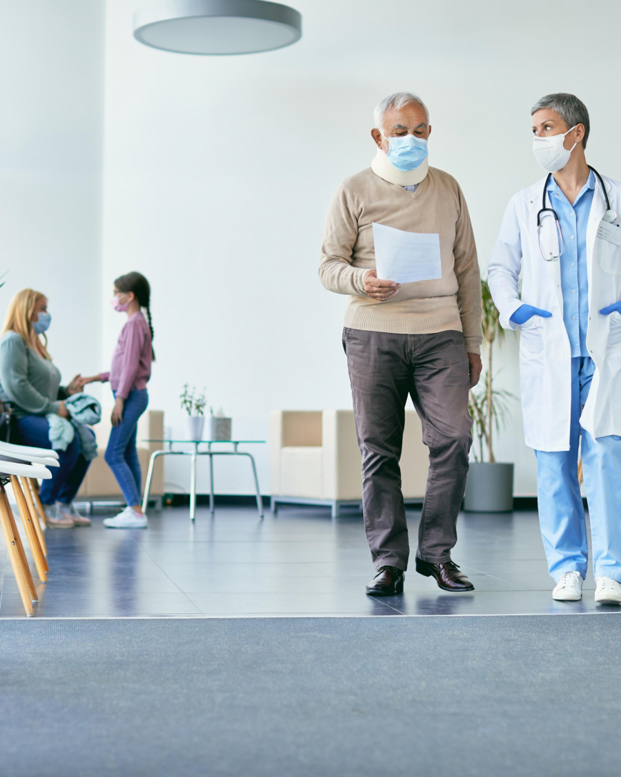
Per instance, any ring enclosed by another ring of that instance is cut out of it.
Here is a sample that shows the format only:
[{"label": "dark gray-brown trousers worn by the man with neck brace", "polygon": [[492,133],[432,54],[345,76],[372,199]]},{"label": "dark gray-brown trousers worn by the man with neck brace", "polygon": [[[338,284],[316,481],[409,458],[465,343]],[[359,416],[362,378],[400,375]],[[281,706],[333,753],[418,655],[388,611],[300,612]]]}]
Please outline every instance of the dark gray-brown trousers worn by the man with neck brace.
[{"label": "dark gray-brown trousers worn by the man with neck brace", "polygon": [[404,335],[343,330],[356,434],[363,455],[363,514],[373,565],[408,569],[410,548],[401,493],[401,447],[408,394],[429,448],[417,556],[441,563],[457,542],[472,444],[470,369],[454,330]]}]

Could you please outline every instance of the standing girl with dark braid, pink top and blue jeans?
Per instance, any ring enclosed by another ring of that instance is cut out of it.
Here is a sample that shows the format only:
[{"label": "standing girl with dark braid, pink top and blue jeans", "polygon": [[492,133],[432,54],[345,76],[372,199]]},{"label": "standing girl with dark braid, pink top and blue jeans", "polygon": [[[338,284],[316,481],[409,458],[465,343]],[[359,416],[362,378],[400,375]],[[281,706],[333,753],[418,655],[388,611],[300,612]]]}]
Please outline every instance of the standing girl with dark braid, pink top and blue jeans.
[{"label": "standing girl with dark braid, pink top and blue jeans", "polygon": [[[95,381],[110,382],[115,402],[112,430],[106,448],[106,462],[119,483],[127,507],[103,523],[109,528],[147,528],[142,511],[142,472],[136,448],[138,419],[147,409],[147,382],[155,354],[151,342],[151,287],[140,273],[128,273],[114,281],[113,308],[127,313],[109,372],[81,378],[82,386]],[[145,317],[146,316],[146,317]]]}]

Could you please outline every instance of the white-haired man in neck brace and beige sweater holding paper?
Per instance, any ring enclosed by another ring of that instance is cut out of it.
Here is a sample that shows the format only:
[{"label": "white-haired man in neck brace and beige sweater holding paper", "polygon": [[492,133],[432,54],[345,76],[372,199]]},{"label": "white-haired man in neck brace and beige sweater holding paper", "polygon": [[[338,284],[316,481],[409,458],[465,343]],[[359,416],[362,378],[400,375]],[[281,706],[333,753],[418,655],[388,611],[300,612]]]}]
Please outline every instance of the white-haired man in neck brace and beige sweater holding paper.
[{"label": "white-haired man in neck brace and beige sweater holding paper", "polygon": [[[408,395],[429,448],[416,570],[435,577],[445,591],[472,591],[451,550],[472,443],[468,391],[481,370],[477,249],[460,186],[428,166],[432,128],[422,99],[408,92],[390,95],[374,118],[376,157],[338,187],[319,269],[324,287],[351,295],[343,347],[363,455],[364,523],[376,568],[366,592],[401,593],[408,568],[399,469]],[[389,241],[414,246],[397,252],[408,277],[424,275],[430,256],[416,241],[435,241],[435,270],[426,280],[403,283],[377,277],[377,228]]]}]

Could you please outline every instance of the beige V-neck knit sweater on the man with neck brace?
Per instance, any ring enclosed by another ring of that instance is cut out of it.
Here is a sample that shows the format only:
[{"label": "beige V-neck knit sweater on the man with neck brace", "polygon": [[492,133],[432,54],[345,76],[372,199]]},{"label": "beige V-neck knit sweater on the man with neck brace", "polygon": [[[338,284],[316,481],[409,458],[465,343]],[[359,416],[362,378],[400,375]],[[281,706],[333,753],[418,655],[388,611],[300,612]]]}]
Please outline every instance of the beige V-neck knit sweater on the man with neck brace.
[{"label": "beige V-neck knit sweater on the man with neck brace", "polygon": [[[442,278],[403,284],[386,302],[367,297],[363,279],[375,269],[373,221],[406,232],[437,233]],[[345,313],[345,326],[351,329],[403,334],[456,329],[463,332],[466,350],[480,351],[477,247],[460,186],[442,170],[430,167],[414,193],[370,168],[345,179],[328,210],[319,277],[329,291],[352,295]]]}]

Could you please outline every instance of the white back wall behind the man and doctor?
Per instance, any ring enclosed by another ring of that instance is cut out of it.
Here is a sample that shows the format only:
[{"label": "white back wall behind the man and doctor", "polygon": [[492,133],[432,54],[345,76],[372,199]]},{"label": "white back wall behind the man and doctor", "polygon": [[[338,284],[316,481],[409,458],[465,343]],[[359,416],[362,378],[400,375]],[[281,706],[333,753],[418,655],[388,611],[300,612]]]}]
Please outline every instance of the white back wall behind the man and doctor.
[{"label": "white back wall behind the man and doctor", "polygon": [[[413,89],[428,103],[430,161],[463,186],[482,267],[509,197],[541,176],[529,117],[539,96],[581,96],[593,124],[588,159],[621,177],[609,152],[621,118],[618,6],[292,2],[304,14],[299,44],[219,58],[141,46],[131,17],[142,0],[106,4],[100,297],[127,270],[151,280],[151,406],[165,409],[175,434],[185,434],[177,398],[186,381],[206,385],[241,437],[266,437],[272,408],[350,406],[346,300],[317,280],[321,229],[339,181],[369,165],[373,106],[387,93]],[[106,310],[107,357],[121,324]],[[517,392],[515,336],[498,365],[499,385]],[[534,493],[517,404],[497,458],[517,462],[516,493]],[[266,450],[259,463],[267,490]],[[217,462],[217,478],[220,492],[252,487],[234,462]],[[166,479],[188,483],[178,462]]]}]

